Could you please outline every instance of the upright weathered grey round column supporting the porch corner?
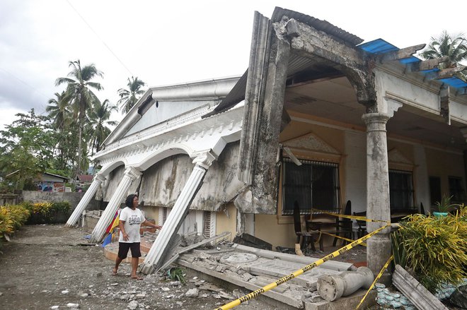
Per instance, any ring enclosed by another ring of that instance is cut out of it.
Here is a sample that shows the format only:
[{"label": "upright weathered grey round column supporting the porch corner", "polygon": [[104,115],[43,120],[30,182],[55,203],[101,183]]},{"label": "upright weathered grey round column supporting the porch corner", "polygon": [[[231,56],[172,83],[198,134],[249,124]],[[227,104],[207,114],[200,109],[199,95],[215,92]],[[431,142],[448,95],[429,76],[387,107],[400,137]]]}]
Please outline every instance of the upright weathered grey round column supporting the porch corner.
[{"label": "upright weathered grey round column supporting the porch corner", "polygon": [[[391,220],[386,141],[386,122],[389,115],[369,113],[364,114],[362,119],[367,124],[367,218]],[[386,224],[383,222],[367,222],[367,231],[373,232],[384,225]],[[367,266],[375,275],[391,256],[390,232],[391,229],[386,228],[367,241]]]}]

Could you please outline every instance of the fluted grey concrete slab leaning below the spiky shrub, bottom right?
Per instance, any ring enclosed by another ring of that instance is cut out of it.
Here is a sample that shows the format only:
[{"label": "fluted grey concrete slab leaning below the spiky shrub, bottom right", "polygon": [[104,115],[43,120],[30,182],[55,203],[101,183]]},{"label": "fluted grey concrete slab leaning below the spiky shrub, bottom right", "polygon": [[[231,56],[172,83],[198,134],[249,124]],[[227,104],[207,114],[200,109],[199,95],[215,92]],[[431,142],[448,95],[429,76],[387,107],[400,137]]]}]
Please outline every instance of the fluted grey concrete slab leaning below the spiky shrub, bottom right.
[{"label": "fluted grey concrete slab leaning below the spiky shrub, bottom right", "polygon": [[404,268],[396,265],[393,285],[420,310],[447,310],[432,293],[420,284]]}]

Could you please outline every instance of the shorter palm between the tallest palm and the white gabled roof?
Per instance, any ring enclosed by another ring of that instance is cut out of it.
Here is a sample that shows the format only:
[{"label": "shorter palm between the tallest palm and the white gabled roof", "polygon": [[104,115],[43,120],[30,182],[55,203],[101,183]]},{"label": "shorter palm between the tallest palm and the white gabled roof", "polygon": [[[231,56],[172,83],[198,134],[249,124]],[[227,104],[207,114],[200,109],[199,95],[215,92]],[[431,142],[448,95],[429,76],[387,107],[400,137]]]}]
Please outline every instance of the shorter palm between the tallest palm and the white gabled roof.
[{"label": "shorter palm between the tallest palm and the white gabled roof", "polygon": [[110,121],[110,114],[117,111],[117,107],[112,105],[109,100],[94,102],[93,109],[89,113],[89,127],[91,131],[91,155],[94,155],[100,150],[100,145],[104,142],[105,138],[110,134],[111,129],[108,126],[117,126],[117,121]]}]

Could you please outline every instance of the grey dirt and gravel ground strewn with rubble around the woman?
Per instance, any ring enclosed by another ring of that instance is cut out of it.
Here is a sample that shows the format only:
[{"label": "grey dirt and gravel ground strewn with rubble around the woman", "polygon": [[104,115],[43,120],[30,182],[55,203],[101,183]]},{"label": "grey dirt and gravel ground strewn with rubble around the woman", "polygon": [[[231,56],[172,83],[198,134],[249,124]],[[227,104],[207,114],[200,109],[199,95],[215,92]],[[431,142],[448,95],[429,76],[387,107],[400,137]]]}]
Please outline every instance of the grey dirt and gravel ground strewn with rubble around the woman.
[{"label": "grey dirt and gravel ground strewn with rubble around the woman", "polygon": [[[131,309],[136,302],[137,309],[216,309],[230,302],[207,290],[186,297],[185,292],[203,280],[190,273],[183,286],[158,275],[132,280],[127,263],[120,266],[120,275],[113,276],[113,262],[103,256],[101,246],[87,243],[87,234],[90,231],[61,225],[28,225],[13,234],[0,249],[0,309],[69,309],[68,304],[79,304],[80,309]],[[359,261],[365,255],[357,249],[339,259]],[[248,290],[224,292],[237,297],[248,294]],[[236,309],[276,308],[253,299]]]}]

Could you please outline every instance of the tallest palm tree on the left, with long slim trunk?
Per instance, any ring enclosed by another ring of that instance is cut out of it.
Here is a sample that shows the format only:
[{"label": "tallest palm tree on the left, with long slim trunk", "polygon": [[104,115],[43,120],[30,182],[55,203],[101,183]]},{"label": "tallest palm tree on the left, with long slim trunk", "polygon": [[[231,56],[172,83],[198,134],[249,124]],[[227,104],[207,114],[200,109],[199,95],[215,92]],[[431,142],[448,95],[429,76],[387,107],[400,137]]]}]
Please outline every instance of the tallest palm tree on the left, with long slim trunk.
[{"label": "tallest palm tree on the left, with long slim trunk", "polygon": [[69,67],[71,71],[68,73],[68,78],[57,78],[55,85],[63,83],[67,84],[65,90],[65,99],[71,102],[74,109],[74,115],[78,119],[79,124],[79,140],[78,140],[78,158],[76,160],[76,175],[81,172],[81,155],[83,155],[81,138],[83,136],[84,120],[86,112],[91,109],[93,102],[98,102],[98,97],[93,93],[91,88],[95,90],[102,90],[103,87],[100,83],[91,82],[96,76],[103,77],[103,73],[98,71],[94,64],[81,67],[78,60],[70,61]]}]

